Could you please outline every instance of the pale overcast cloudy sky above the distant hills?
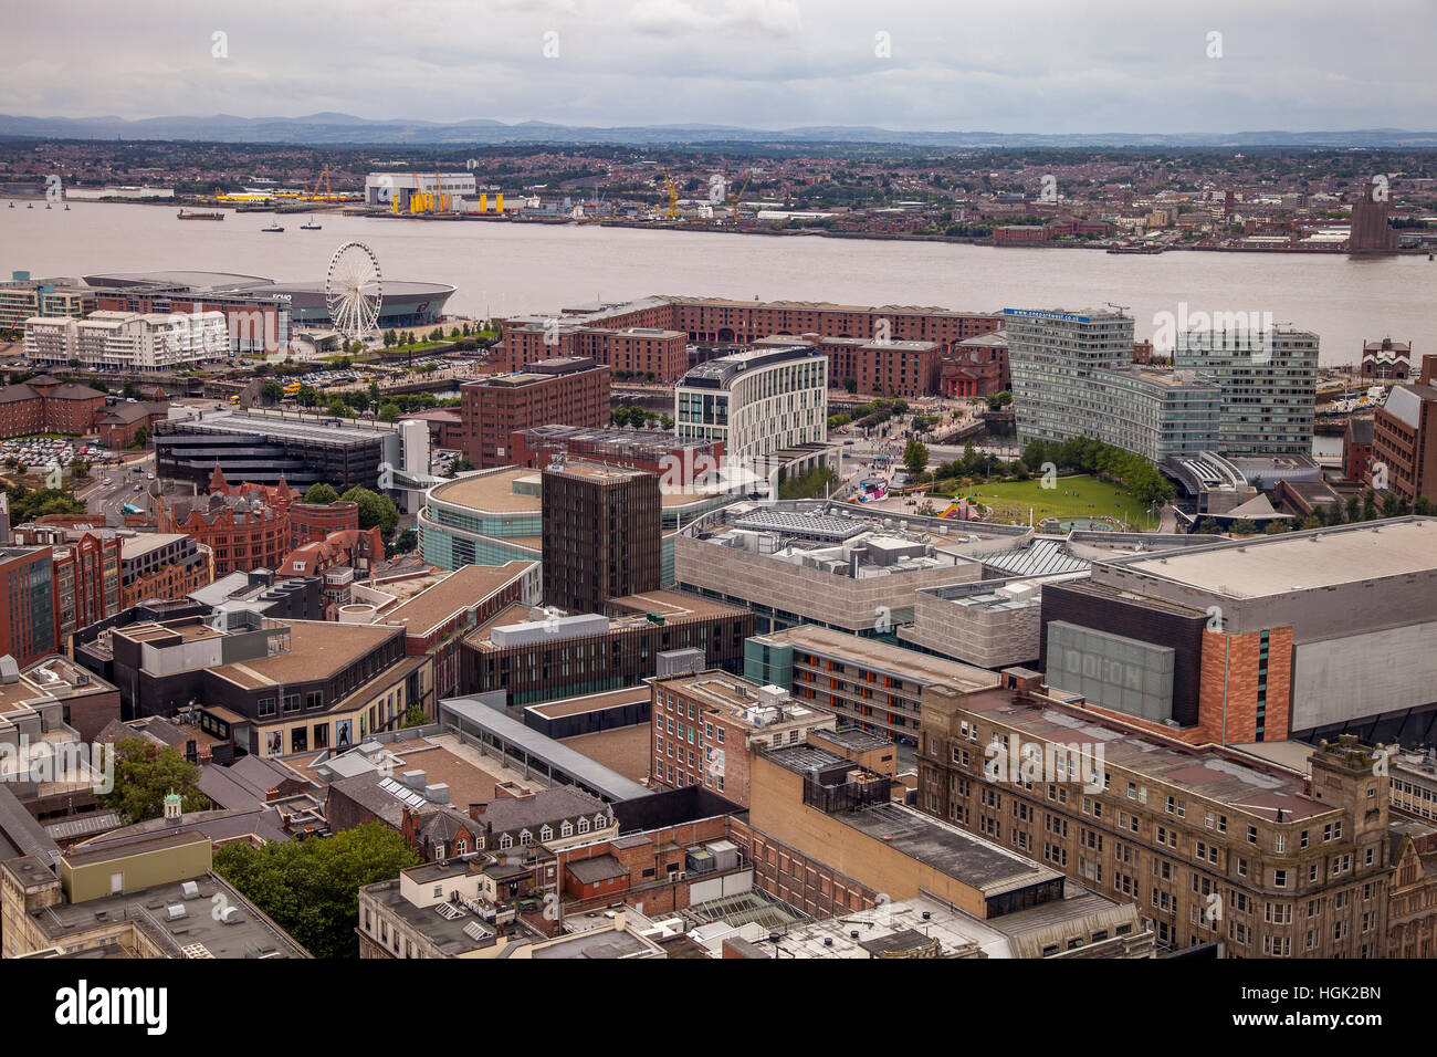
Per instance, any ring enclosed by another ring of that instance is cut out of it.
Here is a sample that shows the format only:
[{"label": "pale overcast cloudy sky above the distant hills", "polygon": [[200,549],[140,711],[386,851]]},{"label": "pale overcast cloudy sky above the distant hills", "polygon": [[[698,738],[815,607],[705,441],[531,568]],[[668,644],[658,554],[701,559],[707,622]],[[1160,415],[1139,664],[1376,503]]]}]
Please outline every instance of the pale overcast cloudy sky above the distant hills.
[{"label": "pale overcast cloudy sky above the distant hills", "polygon": [[1434,0],[46,0],[0,112],[1430,129],[1434,40]]}]

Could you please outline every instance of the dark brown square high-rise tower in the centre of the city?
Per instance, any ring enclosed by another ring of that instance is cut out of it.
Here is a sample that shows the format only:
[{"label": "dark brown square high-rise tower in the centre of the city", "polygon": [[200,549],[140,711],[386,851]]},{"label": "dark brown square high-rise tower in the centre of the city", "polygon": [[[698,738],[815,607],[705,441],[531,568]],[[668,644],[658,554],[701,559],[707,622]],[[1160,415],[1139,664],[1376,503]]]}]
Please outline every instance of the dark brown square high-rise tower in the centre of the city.
[{"label": "dark brown square high-rise tower in the centre of the city", "polygon": [[658,590],[658,477],[601,463],[543,470],[543,592],[569,613],[604,613],[609,598]]}]

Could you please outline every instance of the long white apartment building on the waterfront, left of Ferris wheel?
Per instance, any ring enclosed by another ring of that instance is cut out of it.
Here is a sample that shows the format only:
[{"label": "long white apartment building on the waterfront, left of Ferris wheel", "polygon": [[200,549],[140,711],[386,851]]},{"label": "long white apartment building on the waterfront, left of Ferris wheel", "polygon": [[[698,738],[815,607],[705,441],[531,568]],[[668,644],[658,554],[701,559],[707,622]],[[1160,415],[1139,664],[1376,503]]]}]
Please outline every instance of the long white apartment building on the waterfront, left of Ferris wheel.
[{"label": "long white apartment building on the waterfront, left of Ferris wheel", "polygon": [[26,321],[24,358],[36,365],[79,361],[89,371],[170,371],[223,360],[224,312],[92,312],[83,319]]}]

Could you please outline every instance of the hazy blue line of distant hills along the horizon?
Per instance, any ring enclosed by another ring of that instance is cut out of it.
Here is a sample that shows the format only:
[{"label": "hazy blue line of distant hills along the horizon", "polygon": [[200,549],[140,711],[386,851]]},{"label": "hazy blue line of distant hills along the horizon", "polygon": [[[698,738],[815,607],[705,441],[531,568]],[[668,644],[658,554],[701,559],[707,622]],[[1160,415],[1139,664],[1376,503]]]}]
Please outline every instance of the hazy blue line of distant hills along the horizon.
[{"label": "hazy blue line of distant hills along the horizon", "polygon": [[170,116],[126,121],[125,118],[29,118],[0,115],[0,137],[56,139],[191,139],[204,142],[263,144],[910,144],[914,147],[1338,147],[1338,148],[1433,148],[1437,132],[1400,128],[1368,128],[1345,132],[1075,132],[1040,135],[1029,132],[915,132],[862,125],[810,125],[785,129],[734,125],[621,125],[585,128],[546,121],[502,121],[473,118],[456,122],[369,121],[349,114],[310,114],[303,118]]}]

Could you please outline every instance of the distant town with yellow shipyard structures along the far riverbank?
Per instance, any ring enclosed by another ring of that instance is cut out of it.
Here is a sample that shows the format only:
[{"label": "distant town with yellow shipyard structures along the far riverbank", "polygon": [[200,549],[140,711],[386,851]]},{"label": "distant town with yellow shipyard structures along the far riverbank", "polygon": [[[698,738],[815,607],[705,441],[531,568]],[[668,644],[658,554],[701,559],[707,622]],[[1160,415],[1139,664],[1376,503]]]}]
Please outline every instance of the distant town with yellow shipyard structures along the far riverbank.
[{"label": "distant town with yellow shipyard structures along the far riverbank", "polygon": [[1423,150],[0,141],[0,196],[13,200],[1132,253],[1431,252],[1434,181]]}]

